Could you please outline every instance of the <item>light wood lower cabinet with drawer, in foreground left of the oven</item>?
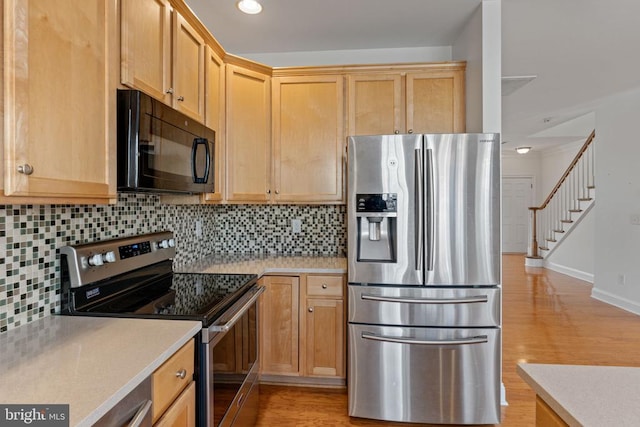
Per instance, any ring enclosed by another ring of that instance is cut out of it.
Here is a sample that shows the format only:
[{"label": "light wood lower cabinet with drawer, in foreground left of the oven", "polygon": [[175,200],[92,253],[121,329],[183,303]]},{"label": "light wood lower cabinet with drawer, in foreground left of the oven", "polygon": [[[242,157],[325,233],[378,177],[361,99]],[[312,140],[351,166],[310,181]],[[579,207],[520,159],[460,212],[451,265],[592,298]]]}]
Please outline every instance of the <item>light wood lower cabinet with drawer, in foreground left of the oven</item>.
[{"label": "light wood lower cabinet with drawer, in foreground left of the oven", "polygon": [[195,425],[194,351],[195,344],[191,340],[152,374],[154,424]]}]

